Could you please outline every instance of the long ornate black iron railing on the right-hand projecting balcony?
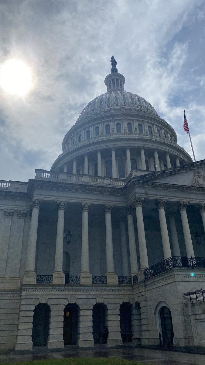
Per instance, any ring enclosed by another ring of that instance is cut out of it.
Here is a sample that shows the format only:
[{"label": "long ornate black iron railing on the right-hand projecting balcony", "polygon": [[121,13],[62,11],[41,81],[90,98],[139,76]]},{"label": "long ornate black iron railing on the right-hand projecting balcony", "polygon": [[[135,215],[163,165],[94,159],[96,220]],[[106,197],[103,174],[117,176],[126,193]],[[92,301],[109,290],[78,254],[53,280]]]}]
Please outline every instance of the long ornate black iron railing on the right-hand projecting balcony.
[{"label": "long ornate black iron railing on the right-hand projecting balcony", "polygon": [[172,256],[158,262],[153,266],[150,266],[147,269],[144,269],[144,278],[145,280],[161,274],[167,270],[173,268],[189,268],[189,269],[199,269],[205,268],[205,257],[186,257],[186,256]]}]

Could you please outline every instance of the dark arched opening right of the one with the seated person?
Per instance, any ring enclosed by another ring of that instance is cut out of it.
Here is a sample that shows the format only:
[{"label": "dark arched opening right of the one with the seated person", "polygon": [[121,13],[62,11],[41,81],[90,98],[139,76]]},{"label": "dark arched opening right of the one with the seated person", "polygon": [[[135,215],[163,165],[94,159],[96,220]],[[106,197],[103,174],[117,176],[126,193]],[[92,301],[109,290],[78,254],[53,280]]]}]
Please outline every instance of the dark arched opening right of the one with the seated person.
[{"label": "dark arched opening right of the one with the seated person", "polygon": [[123,342],[132,342],[131,307],[130,303],[120,306],[120,334]]}]

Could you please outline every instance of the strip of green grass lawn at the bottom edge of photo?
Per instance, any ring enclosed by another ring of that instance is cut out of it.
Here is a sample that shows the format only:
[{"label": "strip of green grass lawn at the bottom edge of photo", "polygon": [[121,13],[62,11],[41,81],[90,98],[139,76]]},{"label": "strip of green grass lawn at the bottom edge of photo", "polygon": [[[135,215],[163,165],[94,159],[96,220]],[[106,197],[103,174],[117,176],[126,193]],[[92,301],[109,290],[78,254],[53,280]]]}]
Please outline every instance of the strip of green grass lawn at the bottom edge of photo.
[{"label": "strip of green grass lawn at the bottom edge of photo", "polygon": [[[140,362],[115,357],[67,357],[63,359],[34,360],[12,363],[15,365],[140,365]],[[1,364],[1,365],[8,365]],[[145,364],[143,364],[145,365]]]}]

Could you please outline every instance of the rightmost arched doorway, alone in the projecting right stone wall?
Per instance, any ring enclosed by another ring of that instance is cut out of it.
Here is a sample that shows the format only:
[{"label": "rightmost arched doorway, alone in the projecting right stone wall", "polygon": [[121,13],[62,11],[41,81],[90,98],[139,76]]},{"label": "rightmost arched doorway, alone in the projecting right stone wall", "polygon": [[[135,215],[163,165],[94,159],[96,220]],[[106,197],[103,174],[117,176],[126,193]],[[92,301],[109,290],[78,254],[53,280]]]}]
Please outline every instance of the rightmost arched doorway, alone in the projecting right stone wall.
[{"label": "rightmost arched doorway, alone in the projecting right stone wall", "polygon": [[173,345],[173,337],[174,337],[174,331],[173,331],[173,325],[172,325],[172,319],[171,319],[171,311],[169,308],[163,306],[160,310],[160,320],[161,320],[161,326],[162,326],[162,341],[163,346],[169,347],[170,345]]}]

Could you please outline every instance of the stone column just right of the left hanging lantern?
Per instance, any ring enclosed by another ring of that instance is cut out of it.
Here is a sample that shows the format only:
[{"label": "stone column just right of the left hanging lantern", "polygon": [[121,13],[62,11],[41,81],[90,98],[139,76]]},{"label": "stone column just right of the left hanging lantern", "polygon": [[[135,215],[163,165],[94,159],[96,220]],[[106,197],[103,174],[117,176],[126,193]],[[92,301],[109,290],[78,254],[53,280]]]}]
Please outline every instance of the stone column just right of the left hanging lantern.
[{"label": "stone column just right of the left hanging lantern", "polygon": [[82,246],[81,246],[81,284],[92,284],[92,275],[89,273],[89,236],[88,211],[90,204],[82,203]]}]

